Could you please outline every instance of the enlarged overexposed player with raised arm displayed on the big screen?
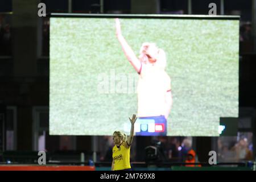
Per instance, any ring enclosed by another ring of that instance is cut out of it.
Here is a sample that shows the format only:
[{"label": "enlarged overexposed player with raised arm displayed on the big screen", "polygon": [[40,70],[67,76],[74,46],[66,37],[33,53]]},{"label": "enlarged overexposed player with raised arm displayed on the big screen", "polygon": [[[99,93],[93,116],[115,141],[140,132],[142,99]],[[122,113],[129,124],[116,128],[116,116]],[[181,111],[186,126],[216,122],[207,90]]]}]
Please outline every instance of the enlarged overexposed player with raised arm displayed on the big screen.
[{"label": "enlarged overexposed player with raised arm displayed on the big screen", "polygon": [[167,135],[167,118],[172,107],[171,78],[166,73],[166,53],[155,43],[143,43],[137,57],[123,38],[119,19],[115,30],[127,60],[139,74],[136,135]]}]

